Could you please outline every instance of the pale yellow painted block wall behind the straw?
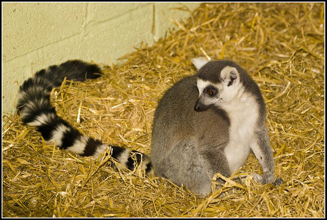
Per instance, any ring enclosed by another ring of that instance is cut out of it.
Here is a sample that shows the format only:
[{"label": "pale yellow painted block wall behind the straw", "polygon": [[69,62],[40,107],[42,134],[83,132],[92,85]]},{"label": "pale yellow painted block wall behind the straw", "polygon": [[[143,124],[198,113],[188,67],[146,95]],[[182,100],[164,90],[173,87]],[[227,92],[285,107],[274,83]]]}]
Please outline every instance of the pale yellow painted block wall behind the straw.
[{"label": "pale yellow painted block wall behind the straw", "polygon": [[15,111],[19,85],[35,71],[69,59],[116,63],[190,16],[173,8],[199,4],[3,3],[3,113]]}]

